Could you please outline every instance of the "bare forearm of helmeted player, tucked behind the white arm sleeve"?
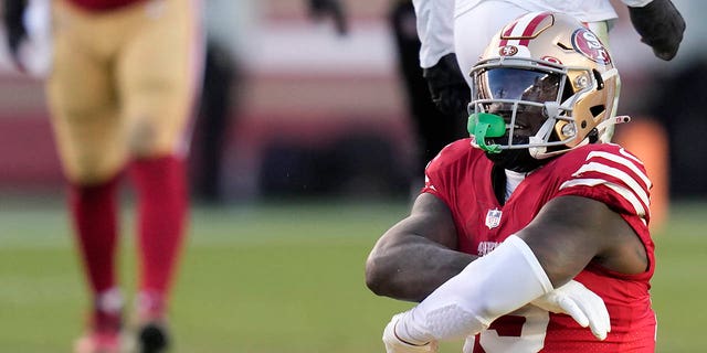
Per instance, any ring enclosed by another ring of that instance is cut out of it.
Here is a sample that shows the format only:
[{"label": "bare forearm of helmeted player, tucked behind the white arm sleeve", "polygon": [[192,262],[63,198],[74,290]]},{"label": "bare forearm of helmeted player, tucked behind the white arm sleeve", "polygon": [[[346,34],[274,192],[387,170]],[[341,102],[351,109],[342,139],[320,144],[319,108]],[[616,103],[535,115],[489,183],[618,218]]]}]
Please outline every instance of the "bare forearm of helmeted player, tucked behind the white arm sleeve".
[{"label": "bare forearm of helmeted player, tucked behind the white arm sleeve", "polygon": [[476,257],[423,237],[374,249],[366,264],[366,284],[376,295],[420,302]]}]

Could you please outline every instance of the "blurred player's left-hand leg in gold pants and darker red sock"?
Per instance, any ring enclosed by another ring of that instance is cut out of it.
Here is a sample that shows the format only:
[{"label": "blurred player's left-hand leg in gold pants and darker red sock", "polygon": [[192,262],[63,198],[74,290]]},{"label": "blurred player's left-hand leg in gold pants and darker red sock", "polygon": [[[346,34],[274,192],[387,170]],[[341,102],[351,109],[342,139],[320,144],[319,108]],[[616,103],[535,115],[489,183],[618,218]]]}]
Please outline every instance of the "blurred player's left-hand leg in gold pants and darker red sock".
[{"label": "blurred player's left-hand leg in gold pants and darker red sock", "polygon": [[[57,25],[53,72],[46,93],[59,156],[68,182],[70,213],[91,289],[93,308],[80,352],[117,350],[122,298],[117,287],[118,175],[126,161],[124,135],[107,66],[82,46],[93,26],[63,6],[54,7]],[[87,26],[87,28],[86,28]],[[99,56],[99,55],[98,55]]]}]

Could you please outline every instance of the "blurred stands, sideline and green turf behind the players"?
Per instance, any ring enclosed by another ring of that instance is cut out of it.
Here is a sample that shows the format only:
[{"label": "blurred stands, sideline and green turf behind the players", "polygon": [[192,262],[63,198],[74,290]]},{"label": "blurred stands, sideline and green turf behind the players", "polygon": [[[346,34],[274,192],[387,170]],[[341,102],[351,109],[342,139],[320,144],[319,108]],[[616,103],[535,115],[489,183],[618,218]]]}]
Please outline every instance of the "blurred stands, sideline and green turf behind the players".
[{"label": "blurred stands, sideline and green turf behind the players", "polygon": [[[362,277],[368,250],[404,216],[422,180],[414,172],[419,131],[389,26],[395,1],[342,2],[346,35],[330,20],[313,21],[304,0],[205,1],[208,68],[190,161],[197,207],[175,303],[179,352],[378,352],[384,323],[407,306],[374,297]],[[664,189],[654,190],[666,197],[656,232],[658,351],[700,352],[707,118],[698,109],[707,101],[707,2],[673,2],[687,31],[672,62],[640,43],[624,6],[614,2],[619,114],[634,120],[618,127],[616,139],[665,156],[655,162]],[[28,76],[0,50],[0,351],[7,352],[67,351],[83,324],[84,284],[40,56],[38,74]],[[627,133],[631,125],[647,132]],[[131,258],[131,237],[124,238]],[[126,281],[131,270],[125,268]],[[273,342],[277,336],[289,343]]]}]

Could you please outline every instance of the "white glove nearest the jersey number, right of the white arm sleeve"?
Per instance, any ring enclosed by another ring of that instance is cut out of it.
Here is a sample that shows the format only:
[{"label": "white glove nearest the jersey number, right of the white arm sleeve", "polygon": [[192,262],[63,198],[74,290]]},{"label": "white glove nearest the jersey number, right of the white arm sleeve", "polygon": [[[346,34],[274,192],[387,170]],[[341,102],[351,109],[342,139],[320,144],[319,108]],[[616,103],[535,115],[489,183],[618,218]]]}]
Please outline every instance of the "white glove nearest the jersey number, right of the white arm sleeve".
[{"label": "white glove nearest the jersey number, right of the white arm sleeve", "polygon": [[600,341],[606,339],[606,333],[611,332],[611,321],[604,301],[576,280],[570,280],[530,303],[547,311],[569,314],[582,328],[589,327]]}]

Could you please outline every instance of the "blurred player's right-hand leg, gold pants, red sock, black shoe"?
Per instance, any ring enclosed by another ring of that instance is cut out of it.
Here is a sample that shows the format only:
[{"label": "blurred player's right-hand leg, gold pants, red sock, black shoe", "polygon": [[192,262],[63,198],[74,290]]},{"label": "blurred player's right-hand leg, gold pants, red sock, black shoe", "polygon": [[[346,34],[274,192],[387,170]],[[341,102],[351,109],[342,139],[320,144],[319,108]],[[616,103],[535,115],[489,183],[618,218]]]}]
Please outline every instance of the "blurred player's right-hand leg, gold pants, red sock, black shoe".
[{"label": "blurred player's right-hand leg, gold pants, red sock, black shoe", "polygon": [[124,47],[117,72],[138,197],[136,319],[144,352],[167,344],[163,327],[187,226],[186,158],[204,51],[198,1],[162,6],[160,12],[136,13],[143,15],[136,23],[141,34]]}]

